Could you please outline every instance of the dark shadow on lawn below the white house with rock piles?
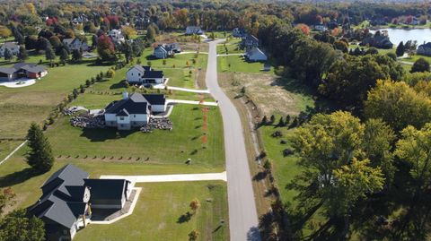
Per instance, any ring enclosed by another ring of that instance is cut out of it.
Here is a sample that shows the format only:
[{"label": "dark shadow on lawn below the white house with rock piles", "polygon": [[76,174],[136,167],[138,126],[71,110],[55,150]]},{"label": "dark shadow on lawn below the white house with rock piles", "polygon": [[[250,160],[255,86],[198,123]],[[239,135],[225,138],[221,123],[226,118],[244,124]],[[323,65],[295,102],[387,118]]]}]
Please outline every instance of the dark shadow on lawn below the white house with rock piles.
[{"label": "dark shadow on lawn below the white house with rock piles", "polygon": [[106,140],[126,138],[128,135],[136,132],[138,130],[119,131],[115,128],[83,128],[81,136],[86,137],[91,142],[105,142]]}]

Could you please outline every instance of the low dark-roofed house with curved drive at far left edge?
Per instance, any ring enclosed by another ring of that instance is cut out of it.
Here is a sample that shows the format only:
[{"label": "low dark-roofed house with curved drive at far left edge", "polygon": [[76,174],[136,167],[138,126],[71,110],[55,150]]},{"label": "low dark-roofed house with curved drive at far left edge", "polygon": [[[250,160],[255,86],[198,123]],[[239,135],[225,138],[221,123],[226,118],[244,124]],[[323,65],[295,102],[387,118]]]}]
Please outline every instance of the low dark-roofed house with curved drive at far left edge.
[{"label": "low dark-roofed house with curved drive at far left edge", "polygon": [[47,69],[40,65],[17,63],[13,67],[0,67],[0,81],[13,82],[20,78],[39,79],[47,73]]}]

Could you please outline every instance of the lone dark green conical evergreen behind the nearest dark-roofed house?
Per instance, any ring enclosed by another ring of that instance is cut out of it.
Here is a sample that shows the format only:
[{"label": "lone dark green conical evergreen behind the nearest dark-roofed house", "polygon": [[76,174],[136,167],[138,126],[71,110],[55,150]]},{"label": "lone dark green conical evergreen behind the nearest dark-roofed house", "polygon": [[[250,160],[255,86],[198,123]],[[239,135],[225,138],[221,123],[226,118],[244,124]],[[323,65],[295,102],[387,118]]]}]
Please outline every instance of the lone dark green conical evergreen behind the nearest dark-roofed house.
[{"label": "lone dark green conical evergreen behind the nearest dark-roofed house", "polygon": [[35,170],[44,173],[54,164],[51,146],[39,125],[32,123],[27,133],[30,151],[27,153],[27,163]]}]

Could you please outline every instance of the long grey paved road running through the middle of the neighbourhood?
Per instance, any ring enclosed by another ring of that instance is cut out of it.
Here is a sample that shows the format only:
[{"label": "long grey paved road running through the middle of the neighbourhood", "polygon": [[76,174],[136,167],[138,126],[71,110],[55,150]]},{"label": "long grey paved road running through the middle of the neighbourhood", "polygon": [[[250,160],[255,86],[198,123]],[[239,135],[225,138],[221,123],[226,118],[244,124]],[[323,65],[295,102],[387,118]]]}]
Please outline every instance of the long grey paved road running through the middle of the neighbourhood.
[{"label": "long grey paved road running through the middle of the neighbourhood", "polygon": [[255,241],[260,240],[258,214],[242,134],[242,123],[238,111],[217,82],[216,45],[223,41],[208,42],[206,81],[208,90],[218,100],[223,116],[230,236],[232,241]]}]

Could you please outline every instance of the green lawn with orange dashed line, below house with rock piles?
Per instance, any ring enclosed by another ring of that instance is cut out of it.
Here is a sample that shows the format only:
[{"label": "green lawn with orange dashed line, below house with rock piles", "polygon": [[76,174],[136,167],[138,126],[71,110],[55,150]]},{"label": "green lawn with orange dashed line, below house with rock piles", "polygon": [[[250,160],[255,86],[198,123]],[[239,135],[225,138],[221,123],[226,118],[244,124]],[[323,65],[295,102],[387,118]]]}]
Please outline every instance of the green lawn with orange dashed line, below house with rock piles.
[{"label": "green lawn with orange dashed line, below house with rock piles", "polygon": [[56,156],[96,159],[148,159],[156,164],[182,164],[192,159],[194,166],[208,171],[224,169],[223,125],[216,107],[207,112],[207,143],[203,143],[204,113],[195,105],[175,105],[170,119],[173,130],[154,133],[117,131],[114,128],[82,129],[61,117],[48,128],[47,136]]}]

